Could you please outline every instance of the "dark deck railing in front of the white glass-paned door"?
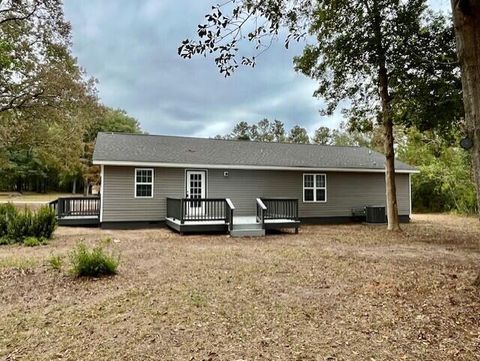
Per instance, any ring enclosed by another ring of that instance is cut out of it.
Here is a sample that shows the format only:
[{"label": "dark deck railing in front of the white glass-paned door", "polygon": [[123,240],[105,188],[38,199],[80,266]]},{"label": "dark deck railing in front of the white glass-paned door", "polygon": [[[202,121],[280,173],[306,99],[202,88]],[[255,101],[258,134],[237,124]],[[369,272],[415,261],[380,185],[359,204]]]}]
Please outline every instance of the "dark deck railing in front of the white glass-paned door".
[{"label": "dark deck railing in front of the white glass-paned door", "polygon": [[185,222],[223,221],[233,225],[235,207],[228,198],[167,198],[167,218]]}]

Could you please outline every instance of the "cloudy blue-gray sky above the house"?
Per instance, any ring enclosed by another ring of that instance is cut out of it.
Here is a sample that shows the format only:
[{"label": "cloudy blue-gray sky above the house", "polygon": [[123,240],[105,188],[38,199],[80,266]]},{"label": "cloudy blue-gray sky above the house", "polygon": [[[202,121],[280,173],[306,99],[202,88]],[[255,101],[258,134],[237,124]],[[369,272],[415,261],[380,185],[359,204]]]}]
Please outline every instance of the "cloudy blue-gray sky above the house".
[{"label": "cloudy blue-gray sky above the house", "polygon": [[[435,0],[448,6],[448,0]],[[310,133],[336,127],[341,115],[322,117],[315,82],[295,73],[293,56],[276,44],[255,69],[225,79],[211,58],[184,60],[177,48],[216,1],[65,0],[73,27],[73,54],[98,79],[101,101],[125,109],[151,134],[215,136],[240,120],[295,124]]]}]

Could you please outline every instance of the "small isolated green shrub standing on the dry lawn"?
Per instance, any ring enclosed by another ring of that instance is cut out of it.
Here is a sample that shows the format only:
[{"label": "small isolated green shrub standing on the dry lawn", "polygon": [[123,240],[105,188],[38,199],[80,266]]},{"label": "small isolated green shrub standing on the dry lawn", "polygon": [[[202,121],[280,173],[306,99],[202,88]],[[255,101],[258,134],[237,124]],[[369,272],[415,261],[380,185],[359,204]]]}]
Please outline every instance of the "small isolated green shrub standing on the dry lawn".
[{"label": "small isolated green shrub standing on the dry lawn", "polygon": [[88,248],[79,243],[70,254],[71,270],[76,277],[100,277],[117,273],[119,258],[102,247]]}]

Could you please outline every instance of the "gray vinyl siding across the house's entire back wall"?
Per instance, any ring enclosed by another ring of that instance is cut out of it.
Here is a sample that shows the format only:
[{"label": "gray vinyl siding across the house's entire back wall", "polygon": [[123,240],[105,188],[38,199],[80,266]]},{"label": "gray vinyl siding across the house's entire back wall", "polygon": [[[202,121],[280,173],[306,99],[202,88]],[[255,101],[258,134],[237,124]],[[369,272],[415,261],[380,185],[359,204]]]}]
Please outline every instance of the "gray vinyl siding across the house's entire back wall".
[{"label": "gray vinyl siding across the house's entire back wall", "polygon": [[[228,177],[224,172],[228,171]],[[105,166],[103,222],[158,221],[166,217],[166,198],[185,194],[185,169],[155,168],[153,198],[135,198],[135,167]],[[351,208],[385,204],[383,173],[325,172],[327,202],[303,202],[303,172],[207,170],[207,197],[230,198],[235,215],[254,215],[255,198],[289,197],[299,200],[300,217],[350,216]],[[409,176],[397,174],[400,215],[409,215]]]}]

